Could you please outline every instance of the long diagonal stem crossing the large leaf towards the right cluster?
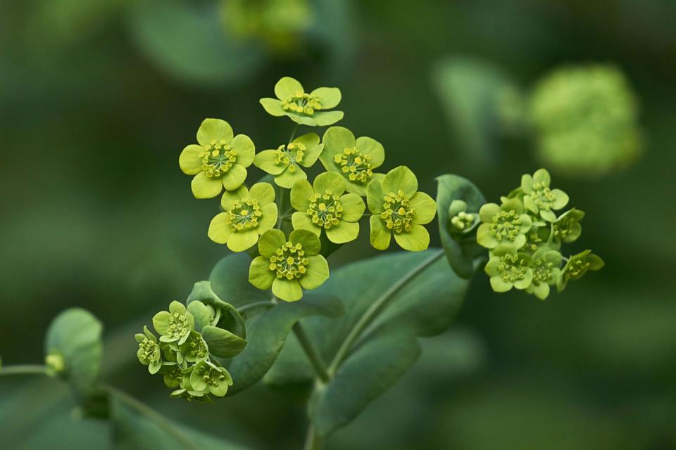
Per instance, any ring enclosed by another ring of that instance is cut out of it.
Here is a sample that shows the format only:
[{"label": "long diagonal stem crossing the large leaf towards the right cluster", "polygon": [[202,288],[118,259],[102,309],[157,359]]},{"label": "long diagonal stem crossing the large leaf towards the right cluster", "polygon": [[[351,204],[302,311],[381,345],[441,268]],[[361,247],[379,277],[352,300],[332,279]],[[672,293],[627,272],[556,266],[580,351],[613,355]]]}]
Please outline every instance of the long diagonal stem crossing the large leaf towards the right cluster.
[{"label": "long diagonal stem crossing the large leaf towards the right cluster", "polygon": [[441,258],[442,256],[444,256],[444,250],[437,250],[437,252],[433,253],[432,256],[411,269],[408,274],[399,278],[399,281],[394,283],[388,290],[382,293],[382,295],[380,295],[380,297],[378,297],[377,300],[373,302],[373,304],[371,304],[371,306],[359,318],[357,323],[352,327],[342,345],[338,349],[338,352],[336,352],[336,356],[334,356],[334,359],[331,361],[329,366],[330,375],[333,375],[337,371],[340,364],[342,364],[344,359],[347,357],[347,352],[349,352],[352,345],[354,345],[356,340],[358,340],[358,338],[361,336],[361,333],[363,333],[366,327],[370,325],[373,319],[375,319],[375,317],[380,314],[380,312],[385,309],[385,307],[387,307],[389,300],[394,297],[394,294],[399,292],[401,288],[406,286],[411,280],[413,280],[413,278],[420,275],[425,269],[427,269],[428,266],[436,262],[437,259]]}]

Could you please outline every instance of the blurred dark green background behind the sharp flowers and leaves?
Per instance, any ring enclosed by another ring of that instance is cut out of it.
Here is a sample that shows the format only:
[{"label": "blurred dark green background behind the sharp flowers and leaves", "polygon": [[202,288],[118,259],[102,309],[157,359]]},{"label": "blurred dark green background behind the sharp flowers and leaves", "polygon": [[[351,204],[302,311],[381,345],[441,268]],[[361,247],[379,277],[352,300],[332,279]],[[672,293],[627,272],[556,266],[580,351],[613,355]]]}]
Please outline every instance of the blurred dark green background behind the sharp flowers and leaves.
[{"label": "blurred dark green background behind the sharp flowers and leaves", "polygon": [[[205,117],[276,148],[291,122],[258,98],[290,75],[339,86],[340,124],[429,193],[454,173],[496,201],[544,165],[587,212],[572,250],[606,260],[545,302],[477,274],[457,326],[330,449],[676,448],[675,23],[672,0],[1,2],[3,364],[41,362],[49,321],[84,307],[104,322],[109,383],[233,442],[298,448],[302,392],[170,401],[133,339],[226,252],[206,237],[218,201],[192,197],[180,151]],[[543,79],[596,63],[619,87],[564,89],[565,130],[532,124]],[[375,254],[363,234],[332,267]],[[0,446],[106,448],[105,424],[72,409],[53,380],[2,379]]]}]

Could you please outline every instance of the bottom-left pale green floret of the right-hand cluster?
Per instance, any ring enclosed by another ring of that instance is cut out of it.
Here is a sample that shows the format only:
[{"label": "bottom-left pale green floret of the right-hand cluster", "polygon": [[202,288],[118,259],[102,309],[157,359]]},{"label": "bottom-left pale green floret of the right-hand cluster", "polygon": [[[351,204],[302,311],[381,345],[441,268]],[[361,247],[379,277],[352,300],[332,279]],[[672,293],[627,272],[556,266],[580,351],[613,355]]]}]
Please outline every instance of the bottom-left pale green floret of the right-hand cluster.
[{"label": "bottom-left pale green floret of the right-hand cluster", "polygon": [[511,245],[501,245],[493,250],[484,270],[491,277],[491,287],[497,293],[511,288],[525,289],[533,280],[530,256],[517,252]]}]

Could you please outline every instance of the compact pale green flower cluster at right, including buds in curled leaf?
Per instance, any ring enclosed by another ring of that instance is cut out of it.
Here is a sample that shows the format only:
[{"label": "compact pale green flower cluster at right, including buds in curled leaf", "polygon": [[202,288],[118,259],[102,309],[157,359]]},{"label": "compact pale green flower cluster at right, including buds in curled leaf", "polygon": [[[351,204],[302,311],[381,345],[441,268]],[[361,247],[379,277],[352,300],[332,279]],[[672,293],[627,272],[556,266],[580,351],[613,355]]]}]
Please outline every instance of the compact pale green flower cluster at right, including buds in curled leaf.
[{"label": "compact pale green flower cluster at right, including buds in curled leaf", "polygon": [[[568,195],[550,184],[549,172],[539,169],[532,176],[522,176],[521,186],[501,198],[500,205],[481,207],[477,243],[489,249],[485,271],[496,292],[517,288],[544,300],[550,286],[561,291],[568,281],[603,266],[603,260],[590,250],[569,258],[561,255],[563,243],[580,237],[584,212],[572,208],[557,215],[568,205]],[[456,209],[450,221],[462,230],[472,218],[461,205]]]}]

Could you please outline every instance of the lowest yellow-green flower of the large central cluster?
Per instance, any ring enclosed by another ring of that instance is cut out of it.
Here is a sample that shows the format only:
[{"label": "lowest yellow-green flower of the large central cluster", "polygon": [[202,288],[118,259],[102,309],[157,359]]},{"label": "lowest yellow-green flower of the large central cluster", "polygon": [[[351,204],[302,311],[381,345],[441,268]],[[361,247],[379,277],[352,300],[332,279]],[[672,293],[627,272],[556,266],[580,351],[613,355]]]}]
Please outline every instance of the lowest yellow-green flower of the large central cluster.
[{"label": "lowest yellow-green flower of the large central cluster", "polygon": [[295,302],[303,289],[315,289],[329,278],[329,265],[319,255],[321,244],[314,233],[295,230],[289,235],[272,229],[258,240],[261,256],[249,266],[249,283],[258,289],[273,288],[281,300]]}]

